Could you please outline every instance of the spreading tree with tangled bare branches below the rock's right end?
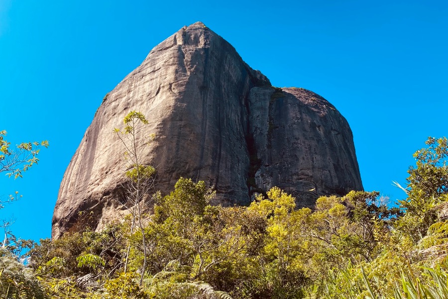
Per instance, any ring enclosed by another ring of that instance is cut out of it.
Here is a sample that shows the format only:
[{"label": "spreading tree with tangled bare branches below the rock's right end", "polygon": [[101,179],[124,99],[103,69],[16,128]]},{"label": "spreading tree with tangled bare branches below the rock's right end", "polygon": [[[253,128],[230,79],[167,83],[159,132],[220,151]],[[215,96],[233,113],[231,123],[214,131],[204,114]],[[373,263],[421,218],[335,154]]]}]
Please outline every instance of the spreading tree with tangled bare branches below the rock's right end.
[{"label": "spreading tree with tangled bare branches below the rock's right end", "polygon": [[388,208],[379,192],[350,191],[344,197],[322,196],[304,227],[319,240],[313,257],[328,268],[371,261],[380,250],[378,236],[389,232],[398,210]]}]

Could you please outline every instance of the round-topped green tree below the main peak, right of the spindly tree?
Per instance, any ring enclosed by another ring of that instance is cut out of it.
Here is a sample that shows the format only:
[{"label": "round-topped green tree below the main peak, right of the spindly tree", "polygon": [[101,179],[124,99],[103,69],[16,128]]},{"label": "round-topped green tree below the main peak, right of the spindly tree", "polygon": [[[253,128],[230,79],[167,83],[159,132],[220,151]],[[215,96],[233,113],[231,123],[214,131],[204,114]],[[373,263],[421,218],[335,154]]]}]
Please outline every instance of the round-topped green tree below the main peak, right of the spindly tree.
[{"label": "round-topped green tree below the main peak, right of the spindly tree", "polygon": [[223,207],[209,205],[214,195],[204,181],[181,177],[174,191],[155,207],[155,225],[164,227],[172,234],[169,239],[177,239],[183,247],[173,259],[192,267],[192,281],[204,278],[242,249],[240,227],[230,224],[235,219],[225,217]]}]

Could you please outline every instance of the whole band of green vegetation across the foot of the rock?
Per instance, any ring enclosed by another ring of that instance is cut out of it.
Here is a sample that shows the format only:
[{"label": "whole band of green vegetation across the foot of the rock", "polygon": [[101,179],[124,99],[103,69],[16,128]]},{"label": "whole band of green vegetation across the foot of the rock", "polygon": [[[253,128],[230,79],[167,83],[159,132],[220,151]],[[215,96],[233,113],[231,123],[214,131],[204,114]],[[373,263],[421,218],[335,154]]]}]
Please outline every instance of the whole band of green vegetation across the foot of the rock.
[{"label": "whole band of green vegetation across the foot of the rock", "polygon": [[[116,130],[123,140],[145,122],[138,113],[127,120]],[[406,188],[397,184],[406,193],[399,206],[351,191],[313,209],[296,209],[276,187],[247,207],[211,206],[213,190],[187,178],[162,197],[150,192],[155,170],[127,152],[128,216],[101,232],[41,240],[26,267],[16,246],[3,248],[1,296],[448,298],[448,140],[427,145]]]}]

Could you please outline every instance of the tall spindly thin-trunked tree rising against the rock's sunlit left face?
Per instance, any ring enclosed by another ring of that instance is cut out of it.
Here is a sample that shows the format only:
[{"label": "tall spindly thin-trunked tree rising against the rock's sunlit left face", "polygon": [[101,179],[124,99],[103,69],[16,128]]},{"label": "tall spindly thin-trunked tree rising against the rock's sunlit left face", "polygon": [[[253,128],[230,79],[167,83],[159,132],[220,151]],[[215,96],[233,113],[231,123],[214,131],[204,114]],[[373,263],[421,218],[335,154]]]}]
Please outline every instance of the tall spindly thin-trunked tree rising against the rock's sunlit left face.
[{"label": "tall spindly thin-trunked tree rising against the rock's sunlit left face", "polygon": [[[141,149],[137,142],[137,134],[142,127],[148,124],[144,115],[140,112],[131,111],[123,119],[125,125],[123,130],[114,129],[114,132],[124,145],[126,151],[124,157],[128,161],[129,169],[125,172],[127,181],[125,183],[126,198],[123,205],[128,209],[132,215],[132,223],[130,227],[130,234],[134,232],[135,224],[142,234],[142,248],[143,248],[143,269],[140,276],[140,285],[143,281],[143,276],[146,269],[146,240],[144,234],[144,226],[142,222],[142,202],[145,197],[149,198],[149,191],[154,186],[155,168],[150,165],[143,165],[141,162]],[[150,136],[150,141],[154,140],[155,135]],[[146,145],[146,144],[145,144]],[[149,204],[147,202],[147,204]],[[126,261],[124,264],[124,272],[127,271],[129,260],[130,244],[126,252]]]}]

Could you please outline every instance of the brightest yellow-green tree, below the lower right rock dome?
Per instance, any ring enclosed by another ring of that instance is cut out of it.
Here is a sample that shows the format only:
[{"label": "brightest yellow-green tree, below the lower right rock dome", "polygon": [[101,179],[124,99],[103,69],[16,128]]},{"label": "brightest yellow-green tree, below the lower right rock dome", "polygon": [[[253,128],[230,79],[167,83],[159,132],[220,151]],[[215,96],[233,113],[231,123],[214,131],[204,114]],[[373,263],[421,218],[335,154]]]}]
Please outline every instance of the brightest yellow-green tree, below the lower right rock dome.
[{"label": "brightest yellow-green tree, below the lower right rock dome", "polygon": [[265,276],[261,297],[301,298],[306,282],[304,273],[304,244],[301,219],[311,210],[295,211],[295,198],[273,187],[267,198],[259,195],[248,207],[266,219],[264,247],[257,257],[260,272]]}]

